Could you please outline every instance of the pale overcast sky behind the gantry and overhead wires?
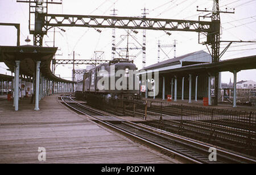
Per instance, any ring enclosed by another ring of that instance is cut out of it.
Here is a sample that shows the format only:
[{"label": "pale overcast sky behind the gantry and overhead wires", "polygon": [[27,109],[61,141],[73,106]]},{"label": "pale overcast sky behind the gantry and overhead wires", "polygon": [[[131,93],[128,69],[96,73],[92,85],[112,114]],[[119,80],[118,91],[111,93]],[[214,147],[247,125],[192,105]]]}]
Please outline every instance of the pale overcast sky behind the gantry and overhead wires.
[{"label": "pale overcast sky behind the gantry and overhead wires", "polygon": [[[60,0],[55,0],[60,1]],[[221,40],[243,40],[256,41],[256,0],[220,0],[220,10],[233,11],[234,14],[221,14]],[[62,5],[49,5],[49,14],[72,14],[72,15],[111,15],[114,8],[118,11],[117,16],[142,16],[142,9],[147,10],[148,18],[162,19],[187,19],[198,20],[199,15],[205,12],[198,12],[207,8],[212,10],[213,0],[63,0]],[[28,30],[28,3],[17,3],[16,0],[0,0],[0,22],[20,23],[20,44],[26,45],[24,41],[27,36],[32,40],[33,36]],[[102,59],[112,59],[112,28],[101,28],[102,32],[97,32],[94,28],[86,27],[61,27],[65,32],[56,28],[55,46],[58,47],[56,59],[72,59],[75,51],[76,59],[92,59],[95,51],[103,51]],[[140,48],[142,45],[142,30],[137,30],[138,34],[133,34],[129,38],[129,47]],[[118,47],[126,48],[127,40],[121,42],[127,35],[126,30],[115,29],[116,43]],[[204,50],[208,52],[205,45],[198,43],[196,32],[171,32],[168,36],[164,31],[146,31],[146,66],[155,64],[158,61],[158,41],[163,45],[172,45],[176,40],[176,56]],[[31,43],[32,44],[32,41]],[[221,44],[221,51],[227,43]],[[16,45],[16,29],[14,27],[0,26],[0,45]],[[53,46],[53,29],[44,36],[45,47]],[[137,55],[141,50],[129,51],[130,58]],[[168,57],[164,55],[167,53]],[[163,48],[160,52],[160,61],[172,59],[174,48]],[[125,51],[120,55],[126,55]],[[235,59],[256,55],[256,43],[234,43],[224,54],[221,60]],[[134,60],[139,69],[142,68],[142,53]],[[86,65],[76,66],[76,69],[84,69]],[[0,63],[0,73],[10,74],[7,66]],[[72,65],[58,65],[56,74],[61,78],[71,80]],[[230,78],[233,82],[233,73],[223,72],[222,82],[228,83]],[[256,81],[256,69],[242,70],[237,74],[237,81]]]}]

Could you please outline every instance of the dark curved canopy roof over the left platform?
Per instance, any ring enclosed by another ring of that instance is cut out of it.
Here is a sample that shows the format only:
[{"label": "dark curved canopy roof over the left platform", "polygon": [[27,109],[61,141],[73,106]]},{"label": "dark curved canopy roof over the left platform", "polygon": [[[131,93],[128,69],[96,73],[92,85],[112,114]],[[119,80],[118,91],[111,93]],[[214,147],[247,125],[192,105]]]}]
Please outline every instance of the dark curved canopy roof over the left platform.
[{"label": "dark curved canopy roof over the left platform", "polygon": [[36,61],[40,63],[40,73],[45,78],[57,82],[73,83],[56,77],[51,72],[51,60],[57,51],[56,47],[36,47],[34,45],[0,46],[0,62],[5,62],[9,69],[14,72],[15,61],[20,61],[20,74],[34,77]]}]

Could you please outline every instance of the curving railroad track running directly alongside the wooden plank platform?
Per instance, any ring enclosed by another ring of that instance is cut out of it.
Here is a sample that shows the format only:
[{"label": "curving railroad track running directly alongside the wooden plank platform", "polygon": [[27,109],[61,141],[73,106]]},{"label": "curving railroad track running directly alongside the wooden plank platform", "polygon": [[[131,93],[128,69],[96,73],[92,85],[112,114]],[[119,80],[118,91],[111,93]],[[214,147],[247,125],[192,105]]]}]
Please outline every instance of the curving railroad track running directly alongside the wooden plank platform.
[{"label": "curving railroad track running directly alongside the wooden plank platform", "polygon": [[209,161],[209,145],[197,143],[189,139],[172,135],[168,132],[157,130],[143,124],[137,124],[129,121],[106,122],[96,118],[96,115],[114,116],[104,111],[93,109],[92,107],[82,105],[72,99],[71,95],[63,95],[61,100],[73,110],[89,115],[93,120],[105,127],[111,128],[139,143],[147,144],[167,155],[177,157],[186,163],[197,164],[217,164],[217,163],[256,163],[256,160],[248,157],[227,152],[221,149],[217,150],[217,161]]}]

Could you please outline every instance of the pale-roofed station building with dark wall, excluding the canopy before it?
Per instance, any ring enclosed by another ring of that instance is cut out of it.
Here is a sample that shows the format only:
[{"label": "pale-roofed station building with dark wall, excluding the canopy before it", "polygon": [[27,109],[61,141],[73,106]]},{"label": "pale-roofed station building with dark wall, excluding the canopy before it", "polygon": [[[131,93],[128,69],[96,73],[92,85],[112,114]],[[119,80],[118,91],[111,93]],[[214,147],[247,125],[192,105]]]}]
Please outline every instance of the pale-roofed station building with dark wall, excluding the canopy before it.
[{"label": "pale-roofed station building with dark wall, excluding the canopy before it", "polygon": [[[212,57],[204,51],[188,53],[175,59],[170,59],[144,68],[146,72],[159,72],[159,93],[152,98],[166,99],[203,99],[208,97],[208,74],[205,73],[172,73],[170,70],[184,68],[189,65],[211,63]],[[189,84],[191,80],[191,84]],[[143,83],[142,83],[143,84]],[[189,89],[189,87],[191,88]],[[191,96],[189,96],[191,90]],[[148,95],[146,94],[146,97]]]}]

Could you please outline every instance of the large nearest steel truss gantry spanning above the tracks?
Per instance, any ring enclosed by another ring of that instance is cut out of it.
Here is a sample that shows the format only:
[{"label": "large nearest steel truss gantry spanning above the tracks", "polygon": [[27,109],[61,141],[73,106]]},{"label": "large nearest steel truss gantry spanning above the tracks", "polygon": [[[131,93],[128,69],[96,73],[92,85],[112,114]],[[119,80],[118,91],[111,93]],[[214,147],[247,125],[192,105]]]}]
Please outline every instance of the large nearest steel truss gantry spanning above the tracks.
[{"label": "large nearest steel truss gantry spanning above the tracks", "polygon": [[[46,4],[44,11],[42,1]],[[119,17],[119,16],[94,16],[94,15],[63,15],[48,14],[48,4],[60,4],[61,0],[27,0],[17,2],[30,3],[30,16],[34,14],[34,28],[30,27],[30,34],[34,35],[34,45],[42,47],[43,36],[53,27],[92,27],[92,28],[123,28],[123,29],[141,29],[141,30],[159,30],[159,31],[189,31],[199,32],[207,35],[207,41],[203,44],[209,44],[212,47],[212,61],[218,62],[220,58],[220,11],[219,0],[214,1],[212,20],[177,20],[177,19],[156,19],[137,17]],[[32,10],[31,10],[32,9]],[[38,10],[39,9],[39,10]],[[205,10],[207,11],[207,10]],[[33,24],[32,24],[33,25]],[[30,19],[31,26],[31,19]],[[200,43],[200,42],[199,42]],[[98,60],[101,61],[101,60]],[[217,77],[216,77],[217,78]],[[217,89],[216,89],[217,91]],[[217,94],[217,93],[216,93]],[[214,99],[214,105],[217,105],[217,96]]]}]

